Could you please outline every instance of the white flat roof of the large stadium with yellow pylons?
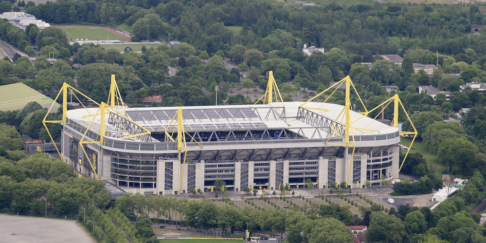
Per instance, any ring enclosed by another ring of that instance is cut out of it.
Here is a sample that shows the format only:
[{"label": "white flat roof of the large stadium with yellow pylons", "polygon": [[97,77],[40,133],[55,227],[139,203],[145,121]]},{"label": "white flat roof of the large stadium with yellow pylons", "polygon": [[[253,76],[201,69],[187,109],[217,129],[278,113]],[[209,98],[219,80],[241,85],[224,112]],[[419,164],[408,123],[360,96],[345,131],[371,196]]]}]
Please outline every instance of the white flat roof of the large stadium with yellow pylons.
[{"label": "white flat roof of the large stadium with yellow pylons", "polygon": [[[231,106],[192,106],[182,108],[184,130],[192,131],[238,131],[238,130],[281,130],[286,129],[308,138],[328,138],[330,127],[341,130],[344,124],[344,106],[318,102],[308,102],[306,108],[300,108],[303,102],[270,103],[265,105]],[[152,132],[164,132],[171,124],[178,107],[128,108],[126,115],[140,126]],[[321,109],[321,110],[318,110]],[[96,108],[68,111],[70,120],[88,127]],[[395,133],[397,128],[390,127],[357,112],[350,112],[353,135],[380,135]],[[108,116],[105,118],[108,121]],[[99,129],[99,119],[92,123],[92,129]],[[105,123],[105,129],[113,136],[116,129]],[[320,131],[316,131],[316,129]],[[124,133],[120,130],[118,132]],[[316,132],[322,133],[316,135]],[[343,135],[343,134],[342,134]],[[116,136],[114,136],[116,137]]]}]

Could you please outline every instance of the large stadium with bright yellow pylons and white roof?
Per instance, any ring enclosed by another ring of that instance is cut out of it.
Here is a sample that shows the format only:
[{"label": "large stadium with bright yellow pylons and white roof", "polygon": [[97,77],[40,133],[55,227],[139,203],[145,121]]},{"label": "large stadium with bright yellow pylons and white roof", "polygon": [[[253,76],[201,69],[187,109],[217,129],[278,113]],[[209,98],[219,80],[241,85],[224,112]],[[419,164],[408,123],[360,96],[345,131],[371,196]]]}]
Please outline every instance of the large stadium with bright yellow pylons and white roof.
[{"label": "large stadium with bright yellow pylons and white roof", "polygon": [[[379,185],[398,178],[400,134],[416,135],[397,128],[397,95],[370,111],[352,111],[349,77],[329,88],[346,87],[344,106],[312,101],[322,93],[284,103],[270,72],[263,104],[149,108],[128,108],[111,79],[108,102],[91,100],[98,108],[68,111],[68,93],[80,92],[65,84],[55,99],[62,96],[62,120],[43,122],[63,125],[64,161],[128,192],[207,191],[218,179],[234,191],[304,188],[307,179],[320,188]],[[391,123],[367,116],[390,104]]]}]

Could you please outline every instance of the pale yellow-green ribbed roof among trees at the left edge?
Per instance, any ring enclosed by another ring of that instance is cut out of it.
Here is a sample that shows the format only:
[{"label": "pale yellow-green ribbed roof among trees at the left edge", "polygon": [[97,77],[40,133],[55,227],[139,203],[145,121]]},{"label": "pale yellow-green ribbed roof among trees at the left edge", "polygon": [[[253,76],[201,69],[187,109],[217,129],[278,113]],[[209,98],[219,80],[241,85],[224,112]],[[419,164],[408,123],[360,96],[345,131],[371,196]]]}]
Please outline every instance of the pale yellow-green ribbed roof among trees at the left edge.
[{"label": "pale yellow-green ribbed roof among trees at the left edge", "polygon": [[[24,106],[32,101],[36,101],[43,108],[51,107],[54,102],[53,99],[37,92],[31,87],[23,83],[7,84],[0,86],[0,111],[15,111],[24,108]],[[55,110],[60,107],[59,104],[54,103]]]}]

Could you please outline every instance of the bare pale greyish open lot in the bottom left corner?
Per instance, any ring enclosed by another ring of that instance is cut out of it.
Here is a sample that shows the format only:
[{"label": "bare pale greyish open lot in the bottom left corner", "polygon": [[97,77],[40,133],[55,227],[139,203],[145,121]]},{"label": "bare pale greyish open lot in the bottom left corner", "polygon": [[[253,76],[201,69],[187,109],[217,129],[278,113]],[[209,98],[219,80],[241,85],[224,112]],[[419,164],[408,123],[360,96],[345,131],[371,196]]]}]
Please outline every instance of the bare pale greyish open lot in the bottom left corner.
[{"label": "bare pale greyish open lot in the bottom left corner", "polygon": [[[12,232],[15,235],[12,235]],[[95,243],[88,233],[72,220],[6,214],[0,214],[0,242]]]}]

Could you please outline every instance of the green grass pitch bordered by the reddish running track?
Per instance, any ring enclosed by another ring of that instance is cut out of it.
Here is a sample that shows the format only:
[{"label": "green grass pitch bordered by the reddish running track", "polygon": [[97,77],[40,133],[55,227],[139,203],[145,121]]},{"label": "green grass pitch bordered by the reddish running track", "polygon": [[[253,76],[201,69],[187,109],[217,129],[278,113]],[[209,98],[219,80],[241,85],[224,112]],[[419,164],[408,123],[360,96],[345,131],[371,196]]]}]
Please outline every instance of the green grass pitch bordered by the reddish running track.
[{"label": "green grass pitch bordered by the reddish running track", "polygon": [[111,32],[108,34],[108,30],[101,28],[101,26],[60,26],[59,28],[66,32],[68,40],[88,38],[89,40],[102,41],[106,40],[107,37],[111,40],[129,40],[129,37],[124,38]]}]

